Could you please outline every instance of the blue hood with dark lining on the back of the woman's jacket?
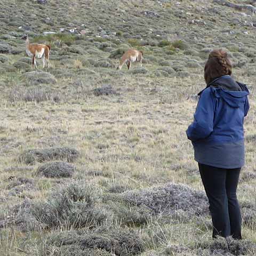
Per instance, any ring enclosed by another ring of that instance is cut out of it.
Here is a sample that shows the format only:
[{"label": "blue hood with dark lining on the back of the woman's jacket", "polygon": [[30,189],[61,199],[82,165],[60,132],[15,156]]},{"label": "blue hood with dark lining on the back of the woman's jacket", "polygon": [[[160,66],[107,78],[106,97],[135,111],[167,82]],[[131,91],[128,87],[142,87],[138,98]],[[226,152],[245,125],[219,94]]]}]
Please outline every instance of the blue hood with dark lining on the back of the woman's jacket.
[{"label": "blue hood with dark lining on the back of the woman's jacket", "polygon": [[233,108],[244,105],[246,96],[249,94],[245,84],[236,82],[229,75],[215,79],[207,87],[210,87],[214,97],[222,98]]}]

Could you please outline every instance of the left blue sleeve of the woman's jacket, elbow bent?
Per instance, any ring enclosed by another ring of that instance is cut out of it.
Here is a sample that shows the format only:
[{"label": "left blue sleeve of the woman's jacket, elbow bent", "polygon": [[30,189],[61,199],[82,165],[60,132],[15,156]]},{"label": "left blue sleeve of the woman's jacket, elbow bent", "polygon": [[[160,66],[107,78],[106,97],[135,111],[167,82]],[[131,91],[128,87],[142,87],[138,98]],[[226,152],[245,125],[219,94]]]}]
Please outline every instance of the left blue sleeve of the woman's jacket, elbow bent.
[{"label": "left blue sleeve of the woman's jacket, elbow bent", "polygon": [[188,126],[187,137],[197,141],[208,137],[213,131],[214,104],[211,90],[204,90],[197,103],[194,122]]}]

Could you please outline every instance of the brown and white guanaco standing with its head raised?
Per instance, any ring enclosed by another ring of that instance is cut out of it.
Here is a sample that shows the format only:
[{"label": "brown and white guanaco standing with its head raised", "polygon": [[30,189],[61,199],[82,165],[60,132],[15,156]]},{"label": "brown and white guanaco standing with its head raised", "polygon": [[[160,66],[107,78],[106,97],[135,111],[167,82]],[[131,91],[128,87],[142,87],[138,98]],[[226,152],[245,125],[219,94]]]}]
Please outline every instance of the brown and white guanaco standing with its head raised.
[{"label": "brown and white guanaco standing with its head raised", "polygon": [[32,65],[33,68],[37,68],[36,58],[43,59],[43,68],[45,66],[45,60],[47,61],[47,66],[50,68],[50,50],[51,46],[47,44],[30,44],[28,35],[24,35],[21,37],[26,40],[26,53],[29,57],[32,57]]}]

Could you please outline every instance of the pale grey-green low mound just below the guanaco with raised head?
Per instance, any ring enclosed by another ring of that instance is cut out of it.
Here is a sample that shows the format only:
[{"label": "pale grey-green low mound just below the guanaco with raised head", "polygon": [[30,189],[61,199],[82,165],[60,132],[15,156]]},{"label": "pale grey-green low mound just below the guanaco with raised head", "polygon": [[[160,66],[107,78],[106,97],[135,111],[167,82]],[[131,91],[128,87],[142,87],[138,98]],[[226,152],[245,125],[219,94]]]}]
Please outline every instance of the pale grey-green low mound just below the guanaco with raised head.
[{"label": "pale grey-green low mound just below the guanaco with raised head", "polygon": [[22,75],[30,85],[37,84],[55,84],[57,80],[55,77],[47,72],[31,71]]}]

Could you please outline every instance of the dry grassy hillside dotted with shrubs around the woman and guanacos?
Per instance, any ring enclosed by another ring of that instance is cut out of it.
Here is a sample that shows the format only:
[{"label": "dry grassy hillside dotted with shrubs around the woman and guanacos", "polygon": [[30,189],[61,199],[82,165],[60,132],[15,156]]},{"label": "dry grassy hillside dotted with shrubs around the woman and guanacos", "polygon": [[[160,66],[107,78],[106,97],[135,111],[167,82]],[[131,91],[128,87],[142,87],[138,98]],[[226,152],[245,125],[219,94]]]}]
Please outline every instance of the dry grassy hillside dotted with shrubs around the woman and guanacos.
[{"label": "dry grassy hillside dotted with shrubs around the woman and guanacos", "polygon": [[[255,255],[255,14],[204,0],[48,2],[0,3],[0,255]],[[51,44],[50,68],[31,68],[25,33]],[[142,67],[116,70],[131,47]],[[185,134],[219,47],[251,92],[241,242],[212,241]]]}]

